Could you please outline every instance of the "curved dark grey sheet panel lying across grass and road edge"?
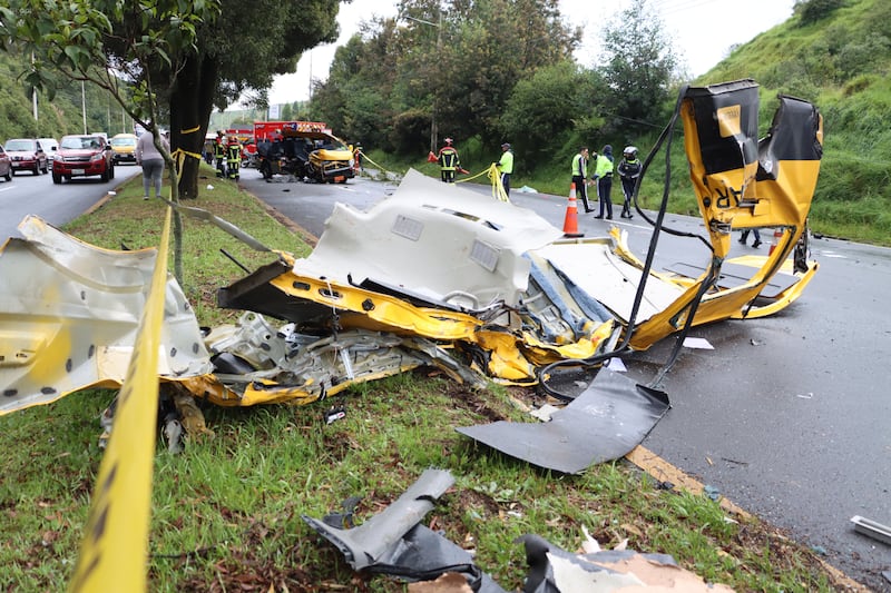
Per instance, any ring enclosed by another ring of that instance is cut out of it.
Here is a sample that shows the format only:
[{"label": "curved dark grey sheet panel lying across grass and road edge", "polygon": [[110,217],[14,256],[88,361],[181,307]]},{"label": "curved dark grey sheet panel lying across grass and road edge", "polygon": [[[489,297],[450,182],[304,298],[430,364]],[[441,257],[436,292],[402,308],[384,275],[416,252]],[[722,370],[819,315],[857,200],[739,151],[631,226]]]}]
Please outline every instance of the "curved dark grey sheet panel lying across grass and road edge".
[{"label": "curved dark grey sheet panel lying across grass and road edge", "polygon": [[601,368],[588,388],[554,413],[550,422],[499,421],[456,431],[532,465],[578,474],[625,456],[669,407],[665,393]]}]

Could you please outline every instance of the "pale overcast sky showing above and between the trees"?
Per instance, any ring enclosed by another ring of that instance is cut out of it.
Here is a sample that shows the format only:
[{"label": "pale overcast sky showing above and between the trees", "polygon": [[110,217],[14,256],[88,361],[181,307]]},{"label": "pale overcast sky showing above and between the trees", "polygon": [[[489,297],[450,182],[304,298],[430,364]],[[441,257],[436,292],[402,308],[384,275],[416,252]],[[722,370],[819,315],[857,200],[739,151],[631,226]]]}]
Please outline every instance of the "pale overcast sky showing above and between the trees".
[{"label": "pale overcast sky showing above and between the trees", "polygon": [[[676,53],[693,76],[705,73],[737,43],[745,43],[758,33],[792,16],[794,0],[648,0],[662,16],[665,33],[675,40]],[[358,32],[362,20],[373,16],[393,17],[395,0],[353,0],[341,4],[337,22],[341,37],[336,43],[320,46],[304,53],[297,71],[276,78],[270,90],[271,103],[306,100],[310,80],[327,78],[334,50]],[[608,20],[630,4],[629,0],[560,0],[560,12],[571,26],[585,30],[576,60],[586,67],[599,52],[598,22]],[[716,81],[718,82],[718,81]]]}]

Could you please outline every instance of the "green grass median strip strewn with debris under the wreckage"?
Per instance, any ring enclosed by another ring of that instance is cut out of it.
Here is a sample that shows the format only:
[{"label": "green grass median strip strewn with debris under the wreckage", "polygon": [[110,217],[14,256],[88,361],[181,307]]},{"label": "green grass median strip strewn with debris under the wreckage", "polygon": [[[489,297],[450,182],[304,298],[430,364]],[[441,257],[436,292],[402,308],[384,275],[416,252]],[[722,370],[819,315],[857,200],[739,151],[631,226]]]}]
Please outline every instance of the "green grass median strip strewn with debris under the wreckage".
[{"label": "green grass median strip strewn with debris under the wreckage", "polygon": [[[210,174],[213,175],[213,174]],[[266,245],[297,254],[309,247],[227,181],[190,206],[207,208]],[[121,188],[68,230],[117,247],[151,245],[163,208]],[[254,267],[270,255],[239,247],[215,227],[186,224],[187,293],[199,322],[214,291],[243,276],[221,247]],[[69,581],[90,493],[101,462],[98,418],[111,391],[84,391],[0,417],[0,590],[58,591]],[[477,564],[507,590],[527,572],[515,540],[538,534],[575,551],[585,526],[603,546],[675,556],[686,569],[737,591],[832,591],[815,555],[747,517],[733,517],[706,496],[665,491],[619,461],[566,476],[531,467],[459,435],[456,426],[523,417],[525,391],[473,392],[439,373],[418,370],[353,387],[329,402],[247,409],[204,407],[213,437],[173,455],[155,455],[148,560],[153,592],[404,591],[384,577],[356,575],[333,545],[301,518],[339,511],[361,495],[358,523],[380,513],[428,467],[449,470],[456,485],[424,522],[476,551]],[[345,418],[326,424],[329,405]]]}]

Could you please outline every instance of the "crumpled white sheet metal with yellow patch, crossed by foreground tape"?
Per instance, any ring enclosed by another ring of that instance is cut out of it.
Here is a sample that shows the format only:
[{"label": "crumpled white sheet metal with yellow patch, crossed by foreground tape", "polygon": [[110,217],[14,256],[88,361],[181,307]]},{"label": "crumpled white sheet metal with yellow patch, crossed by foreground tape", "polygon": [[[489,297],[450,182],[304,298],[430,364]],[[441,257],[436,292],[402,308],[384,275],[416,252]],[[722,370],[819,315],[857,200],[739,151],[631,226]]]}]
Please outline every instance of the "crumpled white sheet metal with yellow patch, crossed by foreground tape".
[{"label": "crumpled white sheet metal with yellow patch, crossed by foreground tape", "polygon": [[[157,251],[115,251],[29,216],[25,240],[0,249],[0,414],[85,387],[119,387],[127,372]],[[158,375],[209,373],[197,320],[167,283]]]}]

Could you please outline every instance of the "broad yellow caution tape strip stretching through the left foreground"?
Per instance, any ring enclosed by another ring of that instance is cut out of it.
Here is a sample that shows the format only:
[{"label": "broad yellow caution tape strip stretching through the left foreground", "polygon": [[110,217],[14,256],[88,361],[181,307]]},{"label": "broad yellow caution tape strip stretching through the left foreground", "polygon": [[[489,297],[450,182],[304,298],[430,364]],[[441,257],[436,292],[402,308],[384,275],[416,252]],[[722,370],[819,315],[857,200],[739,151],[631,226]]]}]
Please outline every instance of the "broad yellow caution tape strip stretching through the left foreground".
[{"label": "broad yellow caution tape strip stretching through the left foreground", "polygon": [[146,307],[118,394],[111,439],[99,466],[75,576],[77,593],[147,587],[151,474],[158,415],[158,349],[167,286],[170,210],[164,221]]}]

